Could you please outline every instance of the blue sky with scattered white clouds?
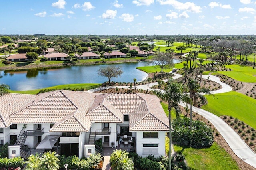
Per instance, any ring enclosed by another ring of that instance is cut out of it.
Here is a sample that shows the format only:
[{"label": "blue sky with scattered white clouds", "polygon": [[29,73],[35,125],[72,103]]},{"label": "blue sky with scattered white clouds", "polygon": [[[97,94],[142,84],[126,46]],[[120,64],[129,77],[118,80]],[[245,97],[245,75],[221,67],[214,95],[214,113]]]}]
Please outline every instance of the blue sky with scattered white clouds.
[{"label": "blue sky with scattered white clouds", "polygon": [[252,0],[3,0],[0,34],[255,34]]}]

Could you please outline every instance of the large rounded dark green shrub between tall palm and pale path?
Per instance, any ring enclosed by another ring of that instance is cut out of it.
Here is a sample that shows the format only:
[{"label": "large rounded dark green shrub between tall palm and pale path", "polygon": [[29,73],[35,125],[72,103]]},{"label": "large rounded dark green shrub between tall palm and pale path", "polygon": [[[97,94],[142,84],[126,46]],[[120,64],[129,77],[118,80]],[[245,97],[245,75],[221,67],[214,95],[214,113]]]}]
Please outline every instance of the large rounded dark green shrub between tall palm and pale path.
[{"label": "large rounded dark green shrub between tall palm and pale path", "polygon": [[172,140],[177,144],[193,148],[206,148],[213,144],[212,129],[202,121],[192,121],[190,129],[189,118],[174,119],[173,129]]}]

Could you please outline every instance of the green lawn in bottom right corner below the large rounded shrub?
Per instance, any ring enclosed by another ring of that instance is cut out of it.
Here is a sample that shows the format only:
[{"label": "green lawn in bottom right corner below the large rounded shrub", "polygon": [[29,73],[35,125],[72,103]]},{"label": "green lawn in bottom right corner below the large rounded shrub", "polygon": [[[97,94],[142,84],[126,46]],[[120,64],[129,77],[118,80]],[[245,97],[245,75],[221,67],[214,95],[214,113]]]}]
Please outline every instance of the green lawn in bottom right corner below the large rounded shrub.
[{"label": "green lawn in bottom right corner below the large rounded shrub", "polygon": [[216,142],[204,149],[173,146],[175,152],[182,150],[188,166],[193,170],[239,170],[236,161]]}]

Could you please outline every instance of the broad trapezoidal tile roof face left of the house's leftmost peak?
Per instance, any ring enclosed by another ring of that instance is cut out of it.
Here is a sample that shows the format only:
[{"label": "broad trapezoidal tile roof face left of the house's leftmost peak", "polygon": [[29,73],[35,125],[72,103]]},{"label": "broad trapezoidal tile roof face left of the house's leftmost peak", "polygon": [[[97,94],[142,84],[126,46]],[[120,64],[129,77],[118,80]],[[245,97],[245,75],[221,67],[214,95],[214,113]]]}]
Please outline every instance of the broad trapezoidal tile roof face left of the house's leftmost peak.
[{"label": "broad trapezoidal tile roof face left of the house's leftmost peak", "polygon": [[10,119],[14,123],[55,123],[76,110],[77,107],[62,91],[54,91],[11,114]]}]

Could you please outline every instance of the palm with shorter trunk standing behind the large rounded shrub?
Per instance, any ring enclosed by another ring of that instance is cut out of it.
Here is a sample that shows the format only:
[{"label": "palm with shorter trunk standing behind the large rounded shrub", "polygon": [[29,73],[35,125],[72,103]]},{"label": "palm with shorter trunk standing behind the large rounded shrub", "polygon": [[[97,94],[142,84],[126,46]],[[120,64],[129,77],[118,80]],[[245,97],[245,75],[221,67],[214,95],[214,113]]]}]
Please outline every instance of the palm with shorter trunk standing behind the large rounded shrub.
[{"label": "palm with shorter trunk standing behind the large rounded shrub", "polygon": [[201,103],[204,105],[207,103],[207,99],[204,95],[208,95],[211,93],[210,88],[205,88],[200,86],[197,81],[194,79],[188,79],[188,90],[190,93],[190,128],[192,127],[192,114],[193,114],[193,105],[196,105],[198,99],[200,99]]}]

